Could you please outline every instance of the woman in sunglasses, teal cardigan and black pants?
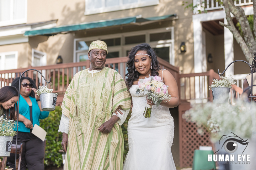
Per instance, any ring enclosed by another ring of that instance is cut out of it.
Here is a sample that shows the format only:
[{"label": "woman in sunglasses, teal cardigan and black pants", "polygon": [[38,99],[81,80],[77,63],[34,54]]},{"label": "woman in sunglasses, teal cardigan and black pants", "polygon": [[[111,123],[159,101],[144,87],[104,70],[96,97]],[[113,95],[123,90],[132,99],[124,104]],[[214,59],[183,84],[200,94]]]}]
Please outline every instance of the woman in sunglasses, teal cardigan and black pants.
[{"label": "woman in sunglasses, teal cardigan and black pants", "polygon": [[[18,89],[19,77],[12,81],[12,86]],[[21,170],[43,170],[44,169],[44,142],[34,136],[31,131],[34,124],[39,125],[39,119],[48,117],[49,112],[42,111],[39,96],[36,93],[37,87],[34,81],[28,77],[21,78],[20,87],[20,108],[18,123],[17,144],[23,143]],[[16,144],[14,136],[13,144]],[[14,168],[15,154],[8,157],[10,168]]]}]

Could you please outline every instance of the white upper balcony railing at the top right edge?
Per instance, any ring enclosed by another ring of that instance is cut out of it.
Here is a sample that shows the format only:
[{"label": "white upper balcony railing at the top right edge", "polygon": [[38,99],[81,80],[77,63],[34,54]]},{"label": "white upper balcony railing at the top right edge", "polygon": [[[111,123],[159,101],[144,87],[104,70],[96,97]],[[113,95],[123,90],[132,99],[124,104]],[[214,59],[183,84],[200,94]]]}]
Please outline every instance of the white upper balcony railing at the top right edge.
[{"label": "white upper balcony railing at the top right edge", "polygon": [[[199,0],[193,0],[194,4],[197,4],[199,2],[200,2]],[[238,0],[238,1],[234,1],[234,3],[235,3],[235,6],[244,6],[244,5],[253,4],[252,0]],[[223,5],[221,5],[217,0],[203,0],[202,6],[204,6],[207,11],[223,8]]]}]

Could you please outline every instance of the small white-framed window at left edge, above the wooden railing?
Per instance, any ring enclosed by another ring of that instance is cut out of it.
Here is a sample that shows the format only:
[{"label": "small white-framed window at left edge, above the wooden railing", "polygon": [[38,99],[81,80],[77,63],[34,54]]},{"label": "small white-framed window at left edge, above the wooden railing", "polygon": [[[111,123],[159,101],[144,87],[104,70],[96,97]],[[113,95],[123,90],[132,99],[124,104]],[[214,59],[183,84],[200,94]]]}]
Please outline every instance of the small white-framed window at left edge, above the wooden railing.
[{"label": "small white-framed window at left edge, above the wooden railing", "polygon": [[0,53],[0,70],[17,69],[18,52]]}]

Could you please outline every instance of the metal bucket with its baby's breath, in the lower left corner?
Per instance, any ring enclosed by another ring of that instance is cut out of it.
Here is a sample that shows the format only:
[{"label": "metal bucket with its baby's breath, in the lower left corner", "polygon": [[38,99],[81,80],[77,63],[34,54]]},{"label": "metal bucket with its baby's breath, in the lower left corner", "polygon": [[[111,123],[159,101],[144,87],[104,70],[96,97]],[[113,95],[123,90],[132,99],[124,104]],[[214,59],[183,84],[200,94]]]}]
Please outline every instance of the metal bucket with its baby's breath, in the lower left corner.
[{"label": "metal bucket with its baby's breath, in the lower left corner", "polygon": [[12,139],[16,135],[17,121],[0,117],[0,157],[10,157]]}]

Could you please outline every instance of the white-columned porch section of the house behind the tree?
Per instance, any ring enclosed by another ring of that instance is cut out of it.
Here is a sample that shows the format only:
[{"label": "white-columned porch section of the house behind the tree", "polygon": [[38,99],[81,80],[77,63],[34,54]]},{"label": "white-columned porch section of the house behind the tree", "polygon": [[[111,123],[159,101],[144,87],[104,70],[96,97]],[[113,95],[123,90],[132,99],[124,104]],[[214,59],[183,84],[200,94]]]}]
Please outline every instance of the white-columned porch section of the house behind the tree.
[{"label": "white-columned porch section of the house behind the tree", "polygon": [[[193,0],[194,4],[199,1]],[[241,6],[245,15],[253,15],[252,0],[240,0],[234,2]],[[205,7],[207,13],[198,13]],[[241,47],[236,42],[233,34],[226,27],[220,26],[219,22],[227,23],[223,6],[217,1],[203,0],[200,6],[193,11],[193,42],[194,42],[194,72],[201,73],[213,69],[218,73],[235,60],[247,61]],[[236,25],[237,21],[233,20]],[[251,63],[250,63],[251,64]],[[238,86],[242,87],[246,75],[250,69],[245,63],[232,64],[225,75],[233,75],[238,80]]]}]

